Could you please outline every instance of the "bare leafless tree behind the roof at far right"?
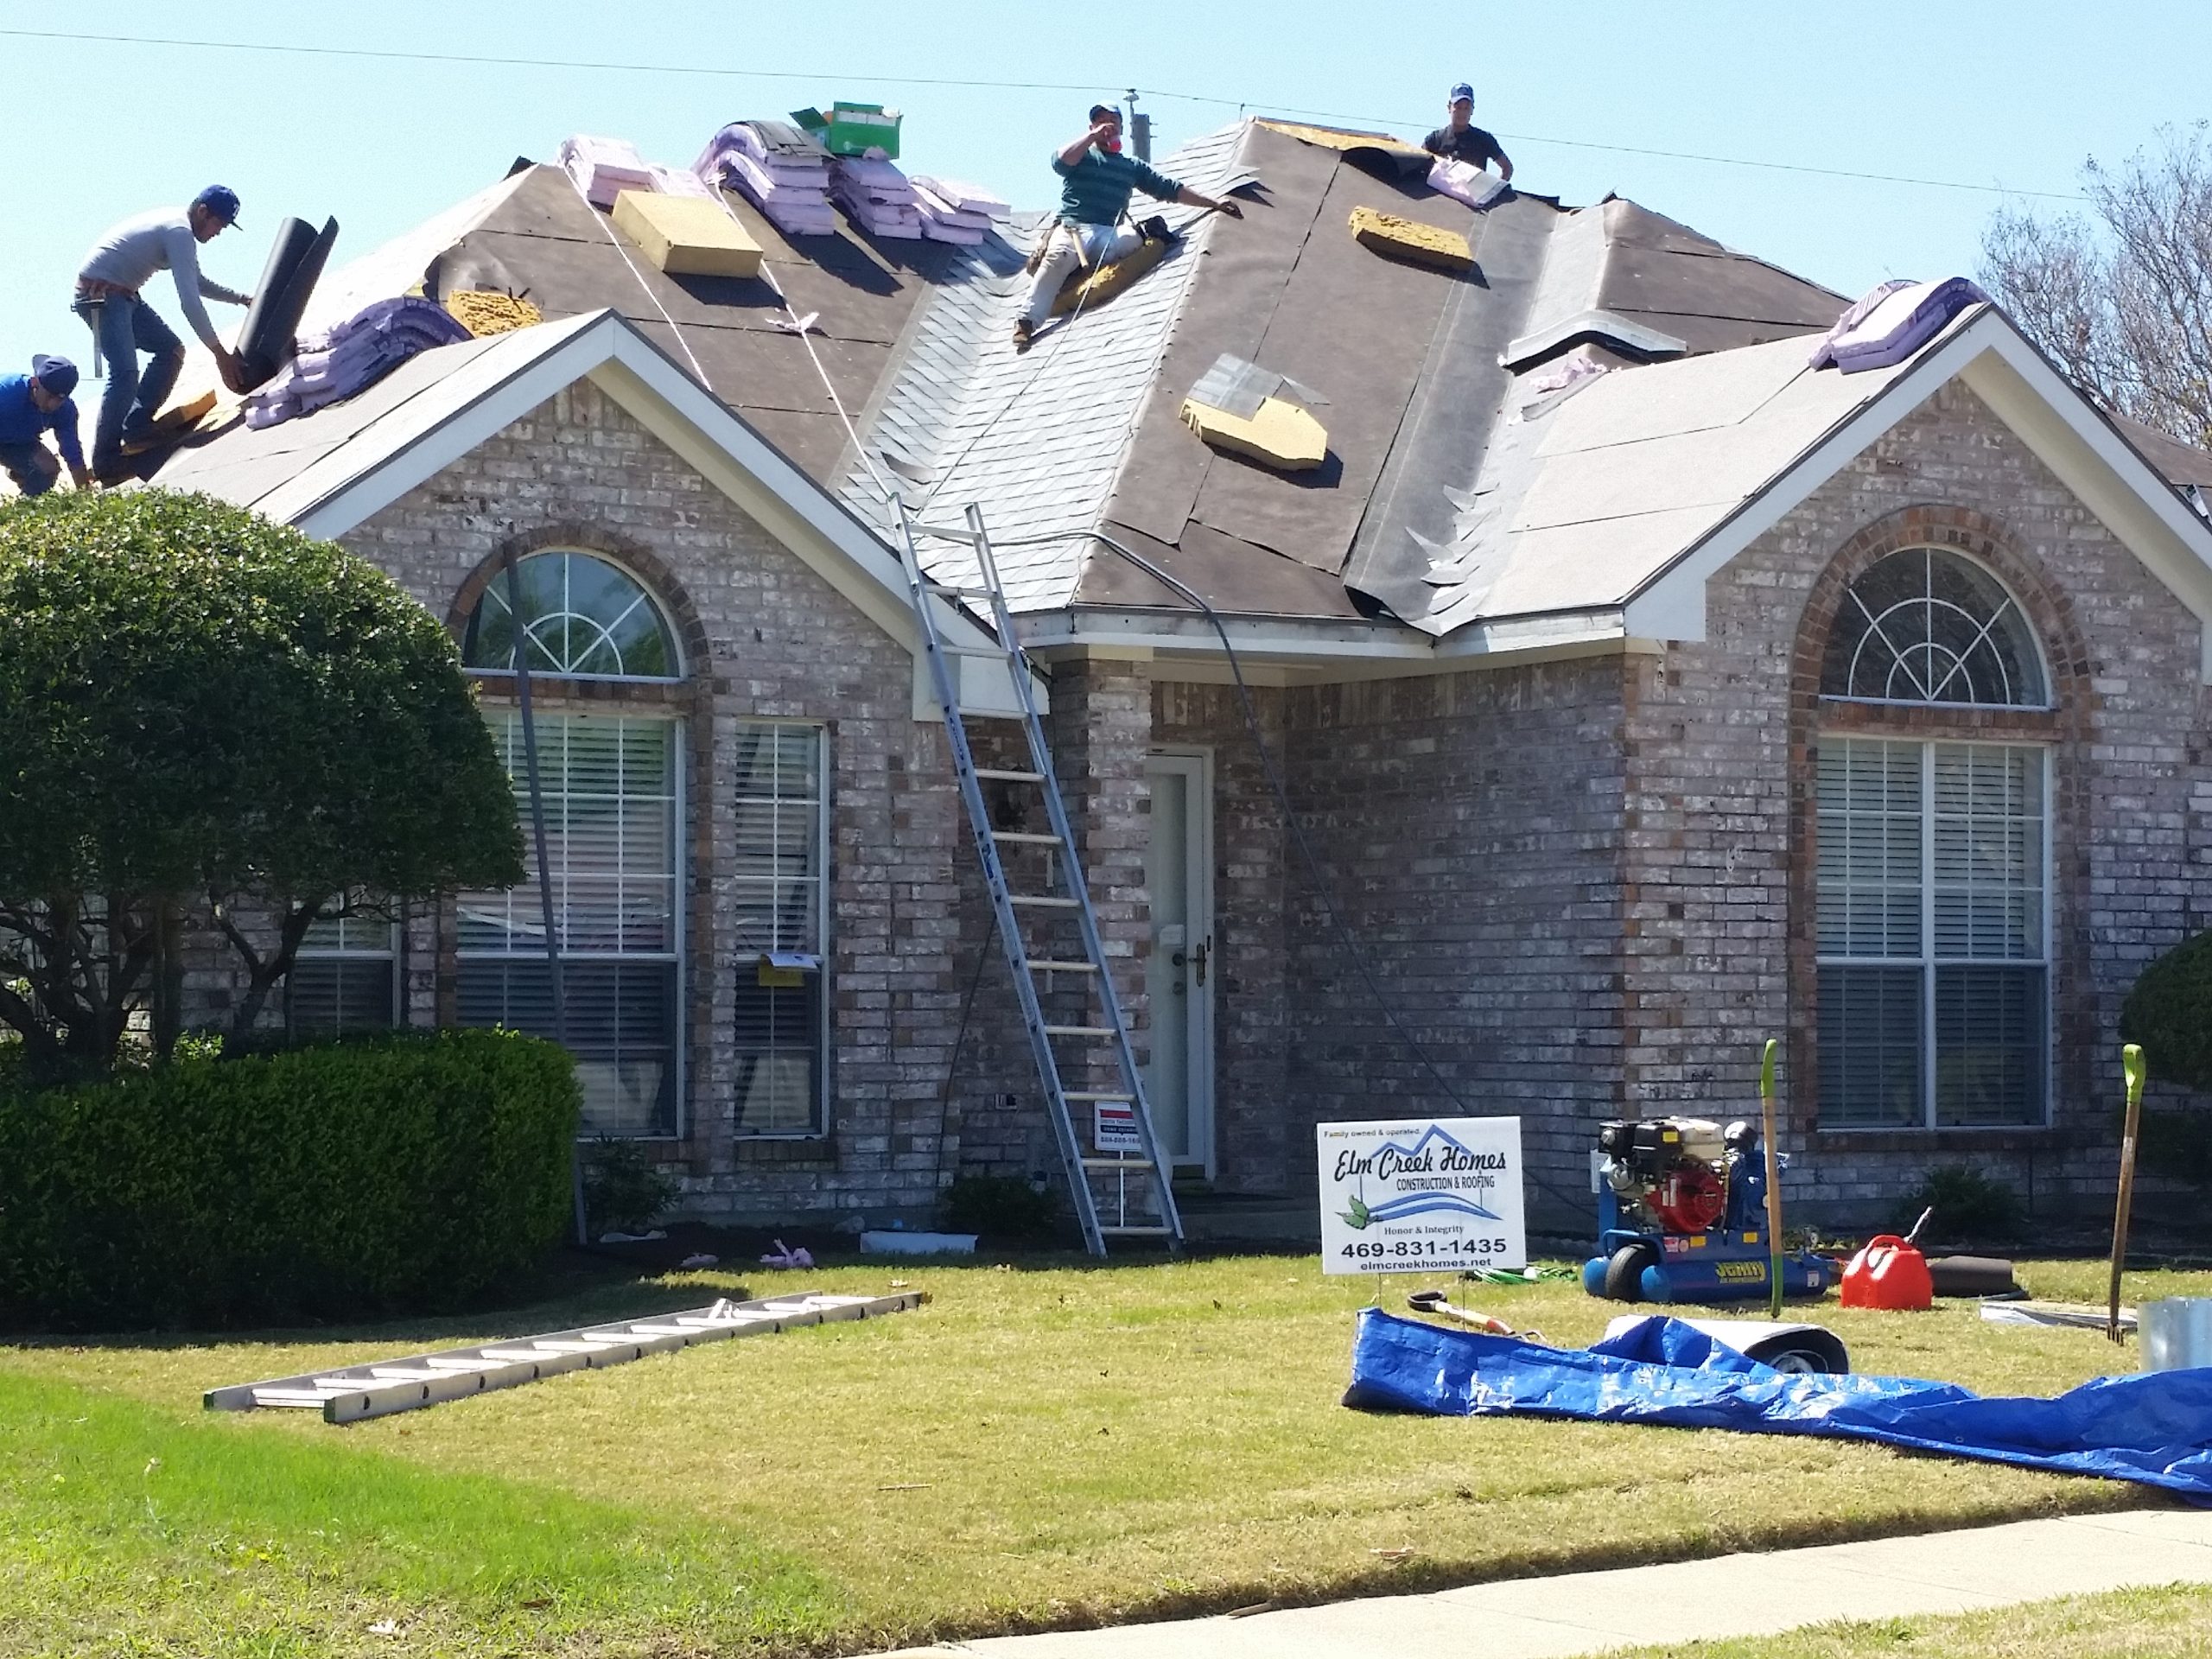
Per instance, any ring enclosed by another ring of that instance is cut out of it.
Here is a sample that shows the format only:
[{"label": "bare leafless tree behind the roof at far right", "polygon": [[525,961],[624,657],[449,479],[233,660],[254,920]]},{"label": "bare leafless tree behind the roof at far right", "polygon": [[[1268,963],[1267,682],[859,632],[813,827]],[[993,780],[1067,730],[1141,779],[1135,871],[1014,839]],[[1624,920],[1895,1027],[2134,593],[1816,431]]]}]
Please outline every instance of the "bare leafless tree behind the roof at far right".
[{"label": "bare leafless tree behind the roof at far right", "polygon": [[2212,146],[2159,128],[2119,168],[2088,161],[2090,217],[2004,208],[1982,285],[2095,403],[2212,447]]}]

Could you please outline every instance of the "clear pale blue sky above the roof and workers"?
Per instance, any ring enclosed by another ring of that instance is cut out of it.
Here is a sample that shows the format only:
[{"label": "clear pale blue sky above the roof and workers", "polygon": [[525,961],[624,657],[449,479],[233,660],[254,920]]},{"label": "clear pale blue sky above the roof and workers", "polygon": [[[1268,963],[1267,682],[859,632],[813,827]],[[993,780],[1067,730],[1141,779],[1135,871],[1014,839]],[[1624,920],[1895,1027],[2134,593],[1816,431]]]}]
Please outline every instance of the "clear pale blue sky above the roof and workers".
[{"label": "clear pale blue sky above the roof and workers", "polygon": [[[533,0],[524,9],[0,0],[0,31],[15,179],[11,234],[0,239],[7,369],[27,367],[35,349],[86,361],[82,325],[66,310],[84,250],[111,221],[184,201],[201,184],[230,184],[246,199],[248,228],[219,239],[206,265],[250,288],[285,215],[336,215],[345,261],[491,184],[515,155],[549,159],[566,133],[622,135],[655,159],[688,164],[728,119],[856,97],[905,111],[909,168],[1042,208],[1053,195],[1046,150],[1082,131],[1093,88],[1119,95],[1133,84],[1146,88],[1164,153],[1234,119],[1239,104],[1418,135],[1464,77],[1475,84],[1475,119],[1500,133],[1524,188],[1568,201],[1617,190],[1856,294],[1885,276],[1971,272],[1982,226],[2004,201],[1997,188],[2075,192],[2084,157],[2119,159],[2161,122],[2199,119],[2212,64],[2212,7],[2201,0],[1402,9],[1130,0],[1082,13],[1011,0]],[[427,64],[18,31],[661,69]],[[1051,86],[916,84],[931,80]],[[157,296],[181,327],[175,296]]]}]

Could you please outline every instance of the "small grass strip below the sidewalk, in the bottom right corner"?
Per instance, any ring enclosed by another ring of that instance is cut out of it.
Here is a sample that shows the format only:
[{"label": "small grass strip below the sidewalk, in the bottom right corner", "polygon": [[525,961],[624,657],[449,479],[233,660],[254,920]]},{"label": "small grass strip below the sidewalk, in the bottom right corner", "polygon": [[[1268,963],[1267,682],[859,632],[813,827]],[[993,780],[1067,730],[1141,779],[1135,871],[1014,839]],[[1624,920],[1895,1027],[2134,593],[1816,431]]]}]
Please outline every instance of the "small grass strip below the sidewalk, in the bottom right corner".
[{"label": "small grass strip below the sidewalk, in the bottom right corner", "polygon": [[1610,1659],[2201,1659],[2212,1588],[2070,1595],[1947,1619],[1816,1624],[1754,1641],[1635,1648]]}]

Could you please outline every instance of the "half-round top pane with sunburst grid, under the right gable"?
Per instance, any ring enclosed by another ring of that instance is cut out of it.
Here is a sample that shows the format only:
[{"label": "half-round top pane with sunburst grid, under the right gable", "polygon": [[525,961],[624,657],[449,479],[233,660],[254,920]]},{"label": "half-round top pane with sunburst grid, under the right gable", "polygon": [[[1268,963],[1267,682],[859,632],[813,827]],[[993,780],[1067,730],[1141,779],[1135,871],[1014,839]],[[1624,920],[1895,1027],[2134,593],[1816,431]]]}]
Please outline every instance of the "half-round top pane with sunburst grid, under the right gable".
[{"label": "half-round top pane with sunburst grid, under the right gable", "polygon": [[2020,604],[1980,564],[1938,546],[1891,553],[1843,595],[1820,695],[1984,708],[2051,701]]}]

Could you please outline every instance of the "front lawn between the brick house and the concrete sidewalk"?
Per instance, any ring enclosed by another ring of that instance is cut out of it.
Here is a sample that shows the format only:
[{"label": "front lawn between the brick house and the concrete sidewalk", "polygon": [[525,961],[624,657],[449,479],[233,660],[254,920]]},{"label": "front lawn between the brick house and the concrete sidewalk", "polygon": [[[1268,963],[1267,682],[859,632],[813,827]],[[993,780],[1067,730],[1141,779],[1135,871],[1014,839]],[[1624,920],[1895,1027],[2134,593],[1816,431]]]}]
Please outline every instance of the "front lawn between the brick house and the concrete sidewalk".
[{"label": "front lawn between the brick house and the concrete sidewalk", "polygon": [[[2099,1276],[2024,1270],[2055,1298]],[[608,1283],[347,1340],[0,1347],[0,1652],[852,1652],[2159,1502],[1865,1444],[1345,1411],[1371,1290],[1312,1256],[803,1276],[891,1279],[933,1305],[352,1429],[199,1394],[801,1279]],[[1394,1281],[1391,1305],[1422,1283],[1451,1281]],[[1566,1343],[1617,1312],[1573,1285],[1462,1301]],[[2135,1363],[1973,1305],[1823,1318],[1860,1369],[1984,1391]]]}]

